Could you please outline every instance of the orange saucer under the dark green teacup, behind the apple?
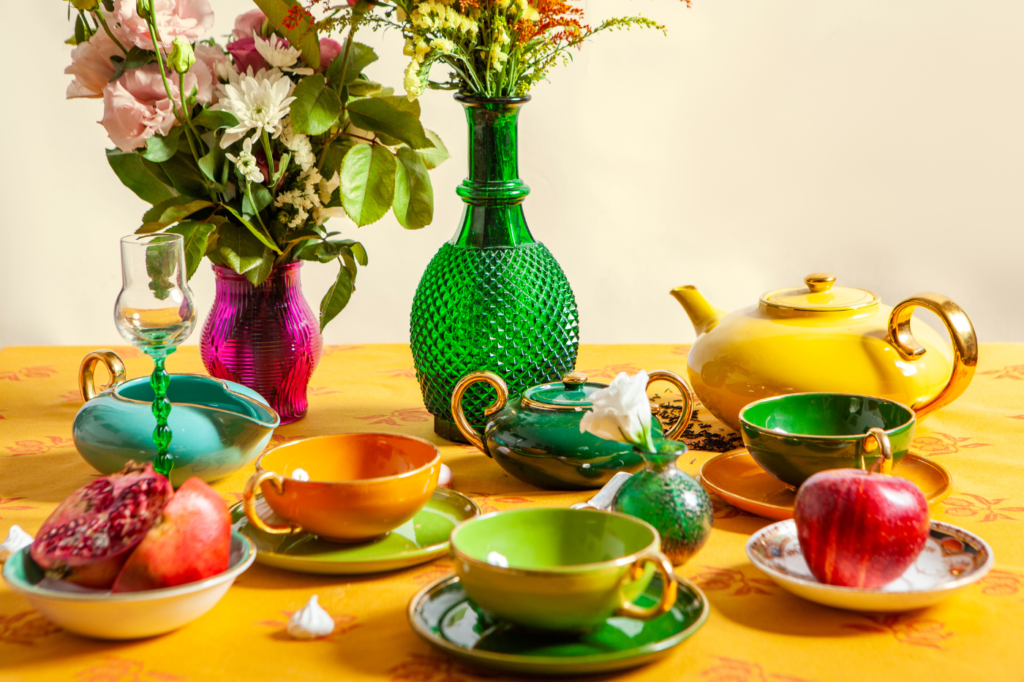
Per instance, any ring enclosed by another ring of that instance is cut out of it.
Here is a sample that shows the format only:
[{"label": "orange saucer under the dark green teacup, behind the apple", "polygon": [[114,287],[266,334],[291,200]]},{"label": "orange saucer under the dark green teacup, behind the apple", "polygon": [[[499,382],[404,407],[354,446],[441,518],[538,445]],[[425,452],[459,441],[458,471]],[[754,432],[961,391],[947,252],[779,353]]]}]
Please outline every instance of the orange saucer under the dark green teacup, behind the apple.
[{"label": "orange saucer under the dark green teacup, behind the apple", "polygon": [[[949,472],[941,464],[913,453],[906,454],[893,469],[893,475],[916,483],[929,505],[945,500],[952,492]],[[700,482],[709,493],[737,509],[776,521],[793,518],[796,493],[762,469],[744,447],[705,462],[700,467]]]}]

